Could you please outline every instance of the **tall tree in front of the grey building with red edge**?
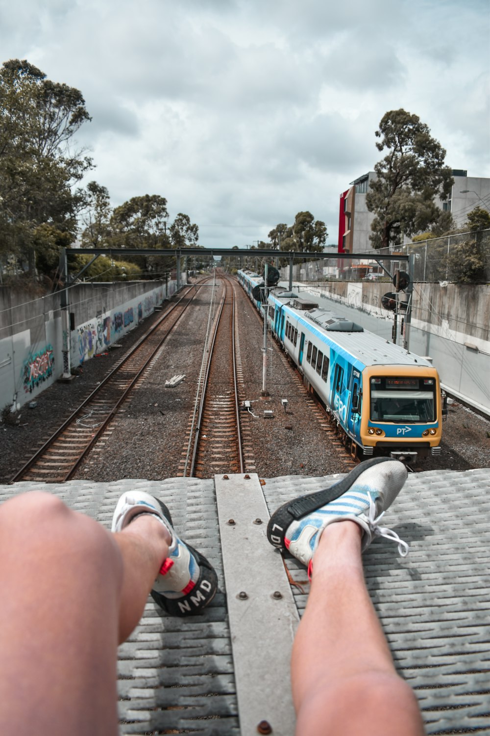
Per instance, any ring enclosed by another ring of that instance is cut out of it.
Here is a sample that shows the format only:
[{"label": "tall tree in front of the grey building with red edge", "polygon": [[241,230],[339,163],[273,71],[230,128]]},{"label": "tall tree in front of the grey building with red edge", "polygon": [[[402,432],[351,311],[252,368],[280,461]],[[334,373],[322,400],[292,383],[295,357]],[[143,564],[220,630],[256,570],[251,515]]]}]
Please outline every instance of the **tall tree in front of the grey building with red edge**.
[{"label": "tall tree in front of the grey building with red edge", "polygon": [[375,132],[379,151],[387,155],[375,165],[377,178],[366,196],[367,208],[375,213],[372,247],[397,245],[430,227],[437,235],[451,226],[450,213],[441,210],[436,197],[447,199],[454,180],[444,166],[445,150],[425,123],[406,110],[386,113]]}]

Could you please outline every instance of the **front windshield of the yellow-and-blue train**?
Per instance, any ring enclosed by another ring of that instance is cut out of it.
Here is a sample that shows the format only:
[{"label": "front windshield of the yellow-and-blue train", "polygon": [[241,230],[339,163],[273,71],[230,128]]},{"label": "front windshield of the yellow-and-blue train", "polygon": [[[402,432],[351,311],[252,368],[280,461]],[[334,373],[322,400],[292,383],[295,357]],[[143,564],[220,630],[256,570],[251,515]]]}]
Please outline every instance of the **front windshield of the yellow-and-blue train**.
[{"label": "front windshield of the yellow-and-blue train", "polygon": [[371,378],[370,418],[378,422],[435,422],[434,378]]}]

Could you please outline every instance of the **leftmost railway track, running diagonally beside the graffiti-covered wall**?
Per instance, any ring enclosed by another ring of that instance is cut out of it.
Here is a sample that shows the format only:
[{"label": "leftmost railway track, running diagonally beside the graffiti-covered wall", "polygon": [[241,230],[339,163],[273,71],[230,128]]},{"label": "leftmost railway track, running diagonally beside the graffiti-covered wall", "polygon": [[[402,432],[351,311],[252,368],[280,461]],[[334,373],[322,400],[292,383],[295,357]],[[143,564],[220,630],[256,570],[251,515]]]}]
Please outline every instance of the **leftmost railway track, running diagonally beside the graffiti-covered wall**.
[{"label": "leftmost railway track, running diagonally beside the graffiti-covered wall", "polygon": [[197,289],[184,289],[178,301],[131,348],[99,386],[68,417],[60,428],[30,457],[10,482],[60,483],[75,473],[109,422],[140,382],[167,336],[192,303]]}]

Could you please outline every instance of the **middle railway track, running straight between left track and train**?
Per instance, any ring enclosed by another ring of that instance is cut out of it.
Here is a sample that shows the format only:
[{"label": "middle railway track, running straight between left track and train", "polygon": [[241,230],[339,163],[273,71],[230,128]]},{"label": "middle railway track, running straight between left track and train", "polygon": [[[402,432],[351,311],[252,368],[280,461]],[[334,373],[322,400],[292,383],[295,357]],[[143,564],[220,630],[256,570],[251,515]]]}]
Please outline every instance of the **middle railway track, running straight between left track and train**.
[{"label": "middle railway track, running straight between left track and train", "polygon": [[195,406],[179,467],[179,475],[184,477],[244,472],[234,283],[225,277],[220,281],[220,303],[214,319],[210,308]]}]

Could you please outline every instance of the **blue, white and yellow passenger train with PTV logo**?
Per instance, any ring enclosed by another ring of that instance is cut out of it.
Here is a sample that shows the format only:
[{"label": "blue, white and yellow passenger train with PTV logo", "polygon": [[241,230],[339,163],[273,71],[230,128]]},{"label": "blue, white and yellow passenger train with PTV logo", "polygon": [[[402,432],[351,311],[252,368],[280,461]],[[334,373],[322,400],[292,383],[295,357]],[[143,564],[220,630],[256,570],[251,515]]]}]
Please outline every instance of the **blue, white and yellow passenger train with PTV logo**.
[{"label": "blue, white and yellow passenger train with PTV logo", "polygon": [[311,294],[275,286],[265,300],[261,275],[240,269],[237,278],[353,456],[440,455],[447,399],[427,358],[320,307]]}]

